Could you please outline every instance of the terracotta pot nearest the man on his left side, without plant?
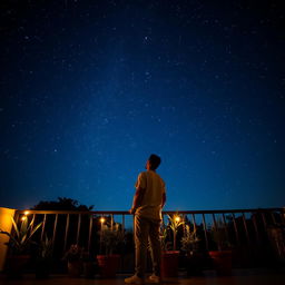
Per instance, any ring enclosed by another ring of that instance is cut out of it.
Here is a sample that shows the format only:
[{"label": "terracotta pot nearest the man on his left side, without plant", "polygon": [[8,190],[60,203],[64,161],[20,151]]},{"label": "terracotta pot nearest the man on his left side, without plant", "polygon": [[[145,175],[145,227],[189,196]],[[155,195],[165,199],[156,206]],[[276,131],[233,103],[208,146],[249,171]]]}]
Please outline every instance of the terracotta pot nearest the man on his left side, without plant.
[{"label": "terracotta pot nearest the man on his left side, without plant", "polygon": [[97,255],[100,276],[111,278],[116,276],[119,267],[119,255]]}]

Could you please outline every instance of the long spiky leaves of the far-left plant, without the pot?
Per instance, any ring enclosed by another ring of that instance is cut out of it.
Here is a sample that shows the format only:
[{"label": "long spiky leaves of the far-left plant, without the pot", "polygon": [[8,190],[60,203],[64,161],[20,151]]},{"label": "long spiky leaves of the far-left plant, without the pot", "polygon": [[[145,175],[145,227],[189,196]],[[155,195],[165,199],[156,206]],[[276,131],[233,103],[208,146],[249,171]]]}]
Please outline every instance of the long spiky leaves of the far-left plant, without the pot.
[{"label": "long spiky leaves of the far-left plant, without the pot", "polygon": [[31,238],[35,235],[35,233],[39,229],[39,227],[42,225],[42,223],[39,223],[37,226],[33,227],[35,218],[29,224],[28,217],[27,215],[24,215],[22,217],[21,226],[19,228],[13,217],[11,217],[11,220],[16,234],[12,235],[11,233],[4,232],[2,229],[0,229],[0,234],[9,236],[10,240],[6,243],[6,245],[9,246],[11,254],[27,254],[30,244],[33,243]]}]

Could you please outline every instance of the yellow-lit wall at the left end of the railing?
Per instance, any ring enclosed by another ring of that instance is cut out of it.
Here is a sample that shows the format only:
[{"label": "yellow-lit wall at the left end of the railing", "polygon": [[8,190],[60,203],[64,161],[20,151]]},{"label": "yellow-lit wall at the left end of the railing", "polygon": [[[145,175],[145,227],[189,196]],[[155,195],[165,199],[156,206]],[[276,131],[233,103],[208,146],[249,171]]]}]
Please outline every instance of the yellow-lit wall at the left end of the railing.
[{"label": "yellow-lit wall at the left end of the railing", "polygon": [[[12,220],[16,209],[2,208],[0,207],[0,229],[10,233],[12,229]],[[7,245],[4,243],[9,242],[7,235],[0,235],[0,272],[3,271],[4,261],[7,255]]]}]

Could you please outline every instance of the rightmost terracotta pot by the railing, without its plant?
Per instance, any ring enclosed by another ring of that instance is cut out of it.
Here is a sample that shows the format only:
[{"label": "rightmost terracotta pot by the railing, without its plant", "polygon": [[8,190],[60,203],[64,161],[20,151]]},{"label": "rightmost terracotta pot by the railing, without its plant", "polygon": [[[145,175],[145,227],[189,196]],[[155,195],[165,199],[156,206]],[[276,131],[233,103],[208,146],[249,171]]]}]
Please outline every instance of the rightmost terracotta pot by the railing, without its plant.
[{"label": "rightmost terracotta pot by the railing, without its plant", "polygon": [[209,252],[209,256],[214,262],[214,267],[219,275],[230,275],[232,274],[232,250],[214,250]]}]

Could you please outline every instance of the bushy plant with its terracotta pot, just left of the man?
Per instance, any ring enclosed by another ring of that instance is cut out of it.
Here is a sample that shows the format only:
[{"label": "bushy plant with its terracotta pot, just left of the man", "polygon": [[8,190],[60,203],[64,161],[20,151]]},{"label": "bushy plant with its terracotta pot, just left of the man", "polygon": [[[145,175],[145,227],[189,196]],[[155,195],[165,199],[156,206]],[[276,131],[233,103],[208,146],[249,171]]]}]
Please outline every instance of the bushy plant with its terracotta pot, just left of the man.
[{"label": "bushy plant with its terracotta pot, just left of the man", "polygon": [[97,255],[101,277],[115,277],[119,266],[120,255],[116,249],[125,242],[125,233],[118,224],[112,227],[102,225],[100,230],[100,248],[104,254]]}]

